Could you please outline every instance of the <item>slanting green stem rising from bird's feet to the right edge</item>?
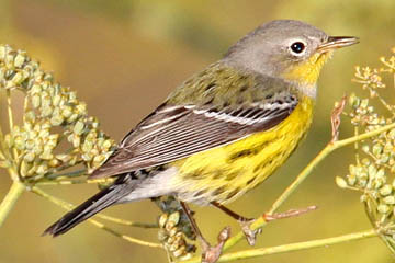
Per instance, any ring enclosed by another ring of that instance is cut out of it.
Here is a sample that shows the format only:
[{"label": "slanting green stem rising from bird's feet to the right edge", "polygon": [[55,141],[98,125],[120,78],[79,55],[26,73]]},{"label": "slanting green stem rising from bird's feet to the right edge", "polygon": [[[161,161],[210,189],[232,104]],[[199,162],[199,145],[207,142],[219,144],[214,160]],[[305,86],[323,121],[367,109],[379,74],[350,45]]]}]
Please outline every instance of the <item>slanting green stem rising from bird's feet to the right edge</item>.
[{"label": "slanting green stem rising from bird's feet to the right edge", "polygon": [[[335,151],[336,149],[339,149],[341,147],[345,147],[347,145],[353,144],[356,141],[360,141],[363,139],[368,139],[372,136],[379,135],[381,133],[384,133],[388,129],[395,128],[395,123],[385,125],[381,128],[361,134],[356,135],[347,139],[337,140],[329,142],[308,164],[305,167],[302,172],[297,175],[297,178],[294,180],[294,182],[286,187],[286,190],[280,195],[280,197],[273,203],[268,215],[273,214],[289,197],[290,195],[297,188],[297,186],[312,173],[313,169],[318,165],[318,163],[325,159],[329,153]],[[267,224],[263,217],[259,217],[252,225],[251,229],[258,229],[263,227]],[[235,235],[233,238],[230,238],[224,245],[223,251],[226,251],[234,247],[236,243],[238,243],[241,239],[244,239],[244,232],[239,231],[237,235]]]}]

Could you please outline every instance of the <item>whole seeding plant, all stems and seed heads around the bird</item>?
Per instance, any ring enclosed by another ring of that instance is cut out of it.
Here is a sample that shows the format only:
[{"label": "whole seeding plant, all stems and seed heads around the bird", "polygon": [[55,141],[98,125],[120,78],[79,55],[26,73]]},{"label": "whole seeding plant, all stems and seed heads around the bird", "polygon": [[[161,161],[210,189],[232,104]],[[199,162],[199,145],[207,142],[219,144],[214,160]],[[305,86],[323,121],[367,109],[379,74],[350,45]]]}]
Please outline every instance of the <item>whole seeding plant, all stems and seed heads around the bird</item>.
[{"label": "whole seeding plant, all stems and seed heads around the bird", "polygon": [[[395,53],[395,49],[393,52]],[[226,252],[244,240],[242,232],[238,232],[226,241],[223,248],[225,253],[218,262],[327,247],[377,236],[395,254],[395,105],[388,103],[381,94],[390,79],[393,82],[392,88],[395,89],[395,56],[380,60],[382,68],[357,67],[354,81],[361,84],[362,90],[368,91],[368,95],[351,94],[348,100],[348,112],[343,112],[346,98],[335,105],[331,114],[332,138],[328,139],[328,145],[279,196],[270,210],[251,225],[252,230],[257,230],[271,220],[315,209],[315,206],[311,206],[306,209],[275,213],[329,153],[354,145],[356,163],[350,164],[346,178],[336,178],[336,182],[342,188],[358,191],[361,194],[361,202],[373,228],[334,238]],[[15,92],[20,92],[24,100],[21,123],[14,123],[12,100]],[[8,118],[8,122],[0,124],[0,168],[9,173],[13,182],[0,204],[0,226],[24,192],[37,194],[65,209],[71,209],[72,205],[49,195],[42,187],[111,183],[111,179],[88,180],[86,176],[101,165],[115,146],[100,129],[98,119],[88,115],[87,105],[77,99],[76,92],[56,83],[53,76],[44,72],[40,64],[24,52],[13,50],[4,45],[0,45],[0,100],[5,102],[2,108],[7,110],[1,115],[2,119],[4,116]],[[376,105],[372,101],[377,101],[376,104],[385,111],[376,111]],[[338,138],[342,113],[350,118],[354,127],[354,135],[346,139]],[[195,236],[179,202],[171,196],[154,202],[162,210],[157,224],[134,222],[103,214],[97,215],[95,218],[129,227],[158,228],[160,243],[123,235],[97,219],[89,221],[126,241],[163,249],[170,262],[200,262],[200,256],[195,255]]]}]

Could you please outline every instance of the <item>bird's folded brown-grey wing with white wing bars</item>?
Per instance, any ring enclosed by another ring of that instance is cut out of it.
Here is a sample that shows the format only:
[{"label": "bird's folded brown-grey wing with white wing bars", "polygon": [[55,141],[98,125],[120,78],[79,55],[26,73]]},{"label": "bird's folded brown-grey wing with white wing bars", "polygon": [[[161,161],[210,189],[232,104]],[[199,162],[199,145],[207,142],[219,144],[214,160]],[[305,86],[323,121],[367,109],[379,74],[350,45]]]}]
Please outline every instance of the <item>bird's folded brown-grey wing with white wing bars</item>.
[{"label": "bird's folded brown-grey wing with white wing bars", "polygon": [[122,140],[91,178],[108,178],[160,165],[270,129],[297,105],[290,92],[259,104],[215,110],[198,105],[162,105]]}]

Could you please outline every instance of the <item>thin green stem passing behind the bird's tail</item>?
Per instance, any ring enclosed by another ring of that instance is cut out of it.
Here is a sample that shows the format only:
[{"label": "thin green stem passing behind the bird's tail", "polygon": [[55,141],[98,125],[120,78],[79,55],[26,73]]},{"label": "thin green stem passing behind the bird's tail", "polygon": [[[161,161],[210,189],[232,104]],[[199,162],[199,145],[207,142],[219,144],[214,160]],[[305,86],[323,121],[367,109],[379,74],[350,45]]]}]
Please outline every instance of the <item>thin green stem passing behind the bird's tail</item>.
[{"label": "thin green stem passing behind the bird's tail", "polygon": [[[49,202],[52,202],[52,203],[54,203],[54,204],[56,204],[56,205],[58,205],[58,206],[67,209],[67,210],[71,210],[71,209],[72,209],[72,206],[71,206],[70,204],[68,204],[67,202],[65,202],[65,201],[63,201],[63,199],[59,199],[59,198],[57,198],[57,197],[55,197],[55,196],[52,196],[52,195],[49,195],[49,194],[47,194],[47,193],[45,193],[44,191],[42,191],[42,190],[38,188],[37,186],[33,186],[33,187],[31,188],[31,191],[32,191],[33,193],[35,193],[35,194],[37,194],[37,195],[46,198],[47,201],[49,201]],[[122,239],[124,239],[124,240],[126,240],[126,241],[129,241],[129,242],[132,242],[132,243],[145,245],[145,247],[151,247],[151,248],[162,248],[162,245],[161,245],[160,243],[147,242],[147,241],[144,241],[144,240],[139,240],[139,239],[132,238],[132,237],[129,237],[129,236],[120,233],[120,232],[113,230],[112,228],[106,227],[104,224],[99,222],[99,221],[97,221],[97,220],[94,220],[94,219],[91,219],[91,218],[90,218],[90,219],[88,219],[88,221],[91,222],[91,224],[93,224],[95,227],[101,228],[101,229],[103,229],[104,231],[110,232],[110,233],[112,233],[112,235],[114,235],[114,236],[116,236],[116,237],[119,237],[119,238],[122,238]]]}]

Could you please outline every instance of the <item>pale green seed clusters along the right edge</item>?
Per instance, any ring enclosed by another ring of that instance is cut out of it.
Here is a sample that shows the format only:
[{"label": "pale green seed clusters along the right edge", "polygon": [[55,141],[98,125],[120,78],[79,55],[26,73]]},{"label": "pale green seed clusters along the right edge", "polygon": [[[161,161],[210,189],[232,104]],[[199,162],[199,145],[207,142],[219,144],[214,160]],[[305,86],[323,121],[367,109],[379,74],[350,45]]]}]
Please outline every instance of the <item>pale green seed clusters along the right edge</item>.
[{"label": "pale green seed clusters along the right edge", "polygon": [[[357,67],[354,81],[369,91],[369,98],[356,94],[349,98],[350,112],[347,115],[354,126],[356,135],[394,122],[395,106],[381,96],[379,89],[386,87],[382,82],[386,77],[383,75],[393,76],[395,72],[395,56],[381,58],[381,61],[384,68]],[[371,105],[374,102],[370,100],[379,102],[384,111],[379,114],[375,106]],[[346,179],[336,178],[336,183],[341,188],[361,193],[360,199],[372,225],[381,231],[381,238],[395,253],[395,129],[359,141],[357,147],[360,150],[356,155],[356,164],[349,165]]]}]

